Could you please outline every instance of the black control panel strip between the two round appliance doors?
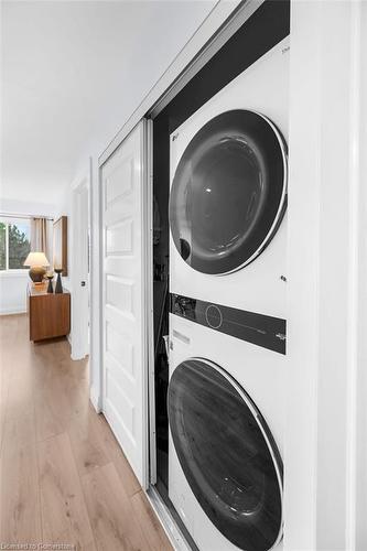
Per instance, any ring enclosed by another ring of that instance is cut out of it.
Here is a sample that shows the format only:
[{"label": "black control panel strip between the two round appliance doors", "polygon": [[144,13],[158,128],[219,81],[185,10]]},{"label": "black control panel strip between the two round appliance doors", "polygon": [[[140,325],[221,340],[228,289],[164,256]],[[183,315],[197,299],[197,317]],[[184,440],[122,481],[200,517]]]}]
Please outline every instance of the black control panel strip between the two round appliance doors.
[{"label": "black control panel strip between the two round appliance doors", "polygon": [[171,293],[170,311],[191,322],[241,341],[285,354],[287,322],[280,317],[247,312]]}]

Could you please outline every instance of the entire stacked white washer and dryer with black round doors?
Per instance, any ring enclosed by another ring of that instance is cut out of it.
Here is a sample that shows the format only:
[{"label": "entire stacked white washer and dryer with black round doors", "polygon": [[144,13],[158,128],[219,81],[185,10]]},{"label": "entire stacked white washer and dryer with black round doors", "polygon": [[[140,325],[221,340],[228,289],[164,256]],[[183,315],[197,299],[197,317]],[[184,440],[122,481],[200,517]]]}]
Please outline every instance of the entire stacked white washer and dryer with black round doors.
[{"label": "entire stacked white washer and dryer with black round doors", "polygon": [[282,548],[288,39],[171,136],[169,496],[202,551]]}]

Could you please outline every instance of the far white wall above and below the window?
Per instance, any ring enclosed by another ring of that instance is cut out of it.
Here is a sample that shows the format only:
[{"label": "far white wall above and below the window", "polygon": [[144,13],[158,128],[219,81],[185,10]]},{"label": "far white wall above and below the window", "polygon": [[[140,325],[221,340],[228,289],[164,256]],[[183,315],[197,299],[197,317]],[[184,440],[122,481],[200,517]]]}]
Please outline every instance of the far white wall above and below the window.
[{"label": "far white wall above and below the window", "polygon": [[[0,213],[47,216],[56,213],[55,205],[0,198]],[[28,270],[0,272],[0,315],[26,312]]]}]

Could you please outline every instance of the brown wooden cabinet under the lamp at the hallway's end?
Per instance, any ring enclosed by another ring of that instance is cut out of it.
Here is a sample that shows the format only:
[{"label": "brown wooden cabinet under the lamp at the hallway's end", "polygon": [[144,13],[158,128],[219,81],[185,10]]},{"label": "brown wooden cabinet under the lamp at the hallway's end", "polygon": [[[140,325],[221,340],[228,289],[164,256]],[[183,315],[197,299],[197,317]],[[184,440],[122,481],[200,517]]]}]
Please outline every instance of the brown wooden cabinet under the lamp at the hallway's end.
[{"label": "brown wooden cabinet under the lamp at the hallway's end", "polygon": [[28,285],[30,341],[61,337],[71,332],[71,293],[47,293],[47,283]]}]

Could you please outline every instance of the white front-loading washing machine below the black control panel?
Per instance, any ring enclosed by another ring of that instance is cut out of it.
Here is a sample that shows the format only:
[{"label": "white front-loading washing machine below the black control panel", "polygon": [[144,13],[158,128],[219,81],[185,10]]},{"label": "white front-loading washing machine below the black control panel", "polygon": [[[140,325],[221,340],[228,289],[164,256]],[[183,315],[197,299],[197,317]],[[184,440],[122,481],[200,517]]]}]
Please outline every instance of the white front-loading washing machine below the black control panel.
[{"label": "white front-loading washing machine below the black control panel", "polygon": [[201,551],[280,550],[284,356],[216,333],[194,302],[176,307],[170,499]]}]

